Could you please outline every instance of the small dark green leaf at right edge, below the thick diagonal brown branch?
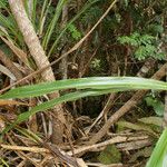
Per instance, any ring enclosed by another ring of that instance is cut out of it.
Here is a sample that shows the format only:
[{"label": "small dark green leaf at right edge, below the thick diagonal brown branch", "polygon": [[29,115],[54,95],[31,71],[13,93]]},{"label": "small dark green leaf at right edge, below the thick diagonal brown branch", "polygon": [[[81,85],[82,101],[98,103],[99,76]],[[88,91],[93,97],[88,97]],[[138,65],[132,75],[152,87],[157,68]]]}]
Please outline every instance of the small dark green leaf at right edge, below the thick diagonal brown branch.
[{"label": "small dark green leaf at right edge, below the thick diagonal brown branch", "polygon": [[150,106],[154,108],[155,112],[158,116],[163,116],[164,115],[164,110],[165,110],[165,105],[160,101],[160,99],[158,98],[154,98],[151,96],[148,96],[145,98],[147,106]]}]

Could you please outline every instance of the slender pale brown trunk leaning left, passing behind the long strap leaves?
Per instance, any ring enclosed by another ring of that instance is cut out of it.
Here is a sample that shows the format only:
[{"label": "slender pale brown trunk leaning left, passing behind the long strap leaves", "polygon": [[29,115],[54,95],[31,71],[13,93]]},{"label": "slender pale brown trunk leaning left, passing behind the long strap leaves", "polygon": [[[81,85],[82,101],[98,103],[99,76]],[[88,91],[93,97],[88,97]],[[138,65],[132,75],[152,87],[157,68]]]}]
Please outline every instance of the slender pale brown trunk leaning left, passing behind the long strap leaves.
[{"label": "slender pale brown trunk leaning left, passing behind the long strap leaves", "polygon": [[[28,19],[28,16],[26,13],[22,0],[8,0],[12,14],[14,16],[14,19],[17,20],[18,27],[23,36],[23,39],[29,48],[29,51],[31,56],[33,57],[36,65],[39,69],[49,66],[50,62],[43,51],[43,48],[40,45],[40,41],[37,37],[37,33],[33,29],[33,26],[31,21]],[[51,68],[47,68],[41,73],[42,79],[45,81],[52,81],[55,80],[55,76]],[[59,97],[59,92],[55,92],[50,95],[50,98],[57,98]],[[63,124],[65,117],[63,117],[63,110],[62,106],[58,105],[55,107],[55,117],[52,118],[52,128],[55,129],[55,132],[52,134],[52,143],[60,144],[62,143],[62,136],[63,136]]]}]

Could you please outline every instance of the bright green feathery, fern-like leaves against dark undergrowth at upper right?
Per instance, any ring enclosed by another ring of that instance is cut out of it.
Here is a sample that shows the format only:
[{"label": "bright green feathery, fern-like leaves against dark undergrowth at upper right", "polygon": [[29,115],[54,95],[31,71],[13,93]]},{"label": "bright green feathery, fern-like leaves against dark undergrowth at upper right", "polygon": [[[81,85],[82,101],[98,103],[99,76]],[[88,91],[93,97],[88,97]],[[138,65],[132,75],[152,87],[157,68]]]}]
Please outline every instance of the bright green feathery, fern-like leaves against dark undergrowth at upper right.
[{"label": "bright green feathery, fern-like leaves against dark undergrowth at upper right", "polygon": [[149,35],[140,35],[134,32],[130,36],[118,37],[118,41],[121,45],[129,45],[134,47],[135,58],[138,60],[144,60],[148,57],[155,59],[165,59],[165,52],[159,52],[157,45],[155,43],[156,38]]}]

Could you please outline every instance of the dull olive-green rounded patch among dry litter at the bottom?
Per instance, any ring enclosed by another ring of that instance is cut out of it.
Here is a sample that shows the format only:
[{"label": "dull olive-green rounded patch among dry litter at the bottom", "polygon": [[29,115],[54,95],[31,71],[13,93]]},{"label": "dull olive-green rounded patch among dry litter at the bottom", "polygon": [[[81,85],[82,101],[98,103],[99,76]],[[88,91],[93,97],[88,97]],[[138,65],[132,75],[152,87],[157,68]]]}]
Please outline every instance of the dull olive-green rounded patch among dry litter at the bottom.
[{"label": "dull olive-green rounded patch among dry litter at the bottom", "polygon": [[99,155],[99,161],[109,165],[119,163],[121,159],[121,154],[115,145],[108,145]]}]

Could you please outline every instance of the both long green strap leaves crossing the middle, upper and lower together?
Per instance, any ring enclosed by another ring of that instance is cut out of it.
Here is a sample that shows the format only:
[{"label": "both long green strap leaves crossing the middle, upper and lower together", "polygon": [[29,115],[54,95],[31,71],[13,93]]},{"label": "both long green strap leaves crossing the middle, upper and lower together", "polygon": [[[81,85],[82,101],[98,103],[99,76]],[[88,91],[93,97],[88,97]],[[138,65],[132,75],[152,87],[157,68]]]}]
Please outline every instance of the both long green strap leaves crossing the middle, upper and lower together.
[{"label": "both long green strap leaves crossing the middle, upper and lower together", "polygon": [[42,102],[33,107],[31,110],[19,115],[17,120],[10,127],[7,127],[3,132],[10,130],[14,125],[27,120],[30,116],[41,110],[50,109],[53,106],[61,102],[73,101],[79,98],[89,96],[99,96],[109,92],[125,91],[129,89],[167,90],[167,84],[153,79],[144,79],[135,77],[92,77],[92,78],[90,77],[81,79],[68,79],[52,82],[43,82],[33,86],[24,86],[11,89],[7,94],[1,95],[0,99],[37,97],[40,95],[53,92],[56,90],[63,90],[70,88],[71,89],[76,88],[79,90],[77,90],[76,92],[63,95],[50,101]]}]

